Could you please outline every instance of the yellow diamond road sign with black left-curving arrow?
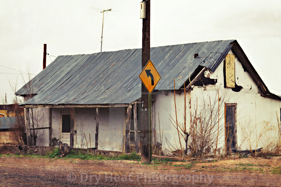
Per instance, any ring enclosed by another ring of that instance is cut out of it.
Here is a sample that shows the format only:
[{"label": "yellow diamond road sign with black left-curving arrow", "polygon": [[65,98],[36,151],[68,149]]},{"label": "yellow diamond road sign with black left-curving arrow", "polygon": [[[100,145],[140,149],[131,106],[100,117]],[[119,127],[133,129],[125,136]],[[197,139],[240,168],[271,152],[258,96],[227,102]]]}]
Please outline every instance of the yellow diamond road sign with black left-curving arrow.
[{"label": "yellow diamond road sign with black left-curving arrow", "polygon": [[139,78],[150,94],[161,79],[151,60],[144,66],[143,70],[140,72]]}]

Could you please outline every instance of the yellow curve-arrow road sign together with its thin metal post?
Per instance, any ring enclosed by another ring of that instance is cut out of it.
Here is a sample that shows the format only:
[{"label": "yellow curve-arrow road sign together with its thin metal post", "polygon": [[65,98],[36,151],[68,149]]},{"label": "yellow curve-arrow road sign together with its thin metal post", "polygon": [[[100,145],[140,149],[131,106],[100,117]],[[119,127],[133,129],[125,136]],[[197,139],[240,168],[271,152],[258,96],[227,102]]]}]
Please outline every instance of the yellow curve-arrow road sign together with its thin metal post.
[{"label": "yellow curve-arrow road sign together with its thin metal post", "polygon": [[[154,90],[155,86],[161,79],[158,71],[156,70],[155,66],[151,62],[151,60],[148,61],[148,63],[144,66],[143,70],[139,74],[139,78],[142,81],[142,84],[145,86],[148,94],[148,133],[149,133],[149,142],[148,143],[148,153],[149,153],[149,163],[151,162],[151,155],[152,155],[152,148],[151,148],[151,139],[152,139],[152,131],[151,131],[151,124],[152,124],[152,111],[151,111],[151,93]],[[145,112],[147,109],[143,108],[142,103],[142,112]],[[143,141],[143,144],[145,142]],[[142,163],[148,163],[147,161],[144,161]]]}]

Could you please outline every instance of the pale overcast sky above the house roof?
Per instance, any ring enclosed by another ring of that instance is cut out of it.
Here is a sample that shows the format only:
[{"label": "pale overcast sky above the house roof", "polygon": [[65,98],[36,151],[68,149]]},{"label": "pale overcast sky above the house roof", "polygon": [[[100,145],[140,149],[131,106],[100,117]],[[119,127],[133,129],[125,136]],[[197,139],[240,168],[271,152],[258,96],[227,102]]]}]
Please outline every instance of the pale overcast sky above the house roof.
[{"label": "pale overcast sky above the house roof", "polygon": [[[9,103],[9,81],[17,80],[18,89],[24,85],[22,75],[10,73],[42,71],[44,43],[47,65],[58,55],[100,52],[103,14],[93,8],[114,10],[105,13],[103,51],[141,48],[140,0],[0,2],[0,96],[7,93]],[[280,0],[151,0],[151,47],[230,39],[269,90],[281,94]]]}]

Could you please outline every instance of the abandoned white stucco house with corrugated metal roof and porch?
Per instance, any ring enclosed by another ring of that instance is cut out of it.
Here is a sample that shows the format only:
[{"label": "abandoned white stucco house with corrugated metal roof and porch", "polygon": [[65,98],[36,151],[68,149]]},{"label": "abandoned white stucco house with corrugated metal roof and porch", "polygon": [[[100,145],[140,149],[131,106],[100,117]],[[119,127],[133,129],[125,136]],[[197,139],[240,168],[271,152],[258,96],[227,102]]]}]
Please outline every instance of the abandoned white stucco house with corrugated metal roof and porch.
[{"label": "abandoned white stucco house with corrugated metal roof and porch", "polygon": [[[278,137],[281,98],[236,40],[152,47],[150,54],[161,76],[152,93],[154,145],[185,149],[184,131],[190,146],[217,152],[260,148]],[[140,72],[141,49],[58,56],[16,94],[25,98],[26,116],[31,108],[44,114],[42,146],[61,140],[129,151],[142,141]]]}]

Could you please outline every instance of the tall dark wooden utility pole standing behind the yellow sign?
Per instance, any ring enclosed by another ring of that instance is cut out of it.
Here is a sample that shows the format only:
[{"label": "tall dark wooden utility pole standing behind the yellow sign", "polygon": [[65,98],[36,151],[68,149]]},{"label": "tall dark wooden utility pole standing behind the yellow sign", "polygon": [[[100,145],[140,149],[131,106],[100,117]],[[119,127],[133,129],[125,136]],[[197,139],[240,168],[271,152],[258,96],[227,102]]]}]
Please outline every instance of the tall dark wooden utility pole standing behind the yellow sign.
[{"label": "tall dark wooden utility pole standing behind the yellow sign", "polygon": [[[142,19],[142,69],[150,60],[150,0],[145,1],[145,18]],[[150,163],[151,145],[149,144],[149,93],[142,83],[141,85],[141,126],[142,126],[142,150],[141,163]]]}]

